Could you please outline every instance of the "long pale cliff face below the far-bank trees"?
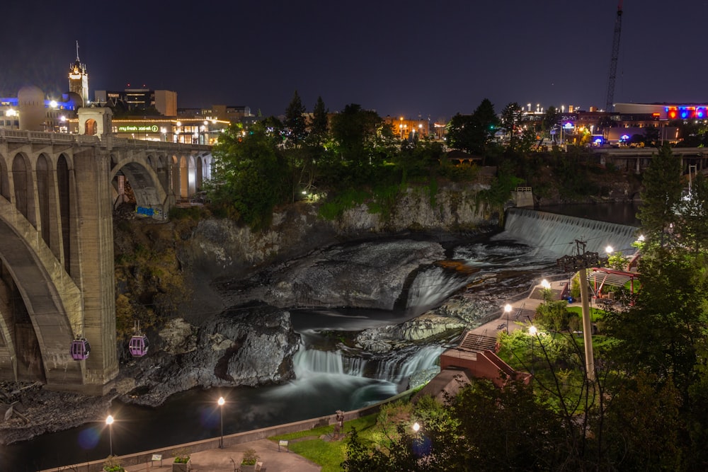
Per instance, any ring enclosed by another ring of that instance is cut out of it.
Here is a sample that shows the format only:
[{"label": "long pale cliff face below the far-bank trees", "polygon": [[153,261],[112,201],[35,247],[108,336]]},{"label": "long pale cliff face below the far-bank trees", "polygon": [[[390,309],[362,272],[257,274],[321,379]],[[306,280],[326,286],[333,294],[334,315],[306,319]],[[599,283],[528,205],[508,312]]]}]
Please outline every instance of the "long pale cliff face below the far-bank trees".
[{"label": "long pale cliff face below the far-bank trees", "polygon": [[433,197],[427,188],[408,188],[390,214],[373,214],[366,205],[349,209],[337,220],[318,217],[318,206],[307,202],[289,205],[273,214],[270,229],[254,234],[232,221],[201,221],[183,248],[180,260],[212,277],[243,275],[254,266],[287,260],[362,237],[401,231],[456,231],[489,226],[484,206],[475,202],[479,185],[450,184]]}]

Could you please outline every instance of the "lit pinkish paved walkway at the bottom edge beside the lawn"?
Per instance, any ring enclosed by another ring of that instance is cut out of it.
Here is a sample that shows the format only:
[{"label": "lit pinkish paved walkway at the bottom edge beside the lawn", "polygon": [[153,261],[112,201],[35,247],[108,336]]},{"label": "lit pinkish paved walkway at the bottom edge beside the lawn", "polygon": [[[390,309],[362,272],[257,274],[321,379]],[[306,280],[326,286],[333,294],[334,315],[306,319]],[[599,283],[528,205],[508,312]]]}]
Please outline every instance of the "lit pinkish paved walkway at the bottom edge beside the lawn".
[{"label": "lit pinkish paved walkway at the bottom edge beside the lawn", "polygon": [[[258,439],[257,441],[244,442],[234,446],[224,447],[224,449],[207,449],[206,451],[190,454],[192,459],[190,471],[193,472],[234,472],[241,466],[241,458],[246,449],[255,449],[263,462],[263,472],[319,472],[321,467],[308,461],[295,452],[287,451],[281,447],[278,451],[278,443],[268,439]],[[162,465],[160,461],[154,461],[137,466],[127,466],[127,472],[138,471],[164,471],[172,470],[173,457],[164,457]]]}]

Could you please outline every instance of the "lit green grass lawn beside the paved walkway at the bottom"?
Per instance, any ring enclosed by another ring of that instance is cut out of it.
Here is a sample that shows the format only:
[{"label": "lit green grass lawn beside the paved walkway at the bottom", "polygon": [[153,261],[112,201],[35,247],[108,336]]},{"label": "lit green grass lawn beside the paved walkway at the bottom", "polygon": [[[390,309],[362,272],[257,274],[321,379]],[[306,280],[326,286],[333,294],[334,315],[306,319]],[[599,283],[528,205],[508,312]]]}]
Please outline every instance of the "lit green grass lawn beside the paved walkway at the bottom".
[{"label": "lit green grass lawn beside the paved walkway at the bottom", "polygon": [[[348,433],[353,427],[359,432],[362,442],[370,442],[375,434],[376,419],[378,414],[368,415],[344,423],[344,432]],[[290,451],[303,456],[322,466],[322,472],[338,472],[341,464],[347,458],[346,439],[327,441],[320,437],[334,432],[334,425],[321,426],[312,430],[292,432],[269,437],[271,441],[287,439]]]}]

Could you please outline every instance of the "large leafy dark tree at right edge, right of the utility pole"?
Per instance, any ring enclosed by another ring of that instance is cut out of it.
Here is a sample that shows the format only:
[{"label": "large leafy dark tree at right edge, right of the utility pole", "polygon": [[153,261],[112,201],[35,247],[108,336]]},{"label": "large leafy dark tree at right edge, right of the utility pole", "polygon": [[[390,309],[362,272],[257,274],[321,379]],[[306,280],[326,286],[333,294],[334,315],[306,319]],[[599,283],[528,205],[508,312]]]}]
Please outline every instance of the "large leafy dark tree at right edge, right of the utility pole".
[{"label": "large leafy dark tree at right edge, right of the utility pole", "polygon": [[700,258],[683,250],[646,247],[639,263],[641,291],[634,306],[610,311],[605,330],[615,343],[610,354],[630,374],[646,372],[671,379],[687,398],[695,382],[708,321],[704,309],[708,284]]}]

